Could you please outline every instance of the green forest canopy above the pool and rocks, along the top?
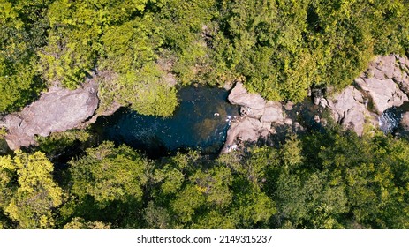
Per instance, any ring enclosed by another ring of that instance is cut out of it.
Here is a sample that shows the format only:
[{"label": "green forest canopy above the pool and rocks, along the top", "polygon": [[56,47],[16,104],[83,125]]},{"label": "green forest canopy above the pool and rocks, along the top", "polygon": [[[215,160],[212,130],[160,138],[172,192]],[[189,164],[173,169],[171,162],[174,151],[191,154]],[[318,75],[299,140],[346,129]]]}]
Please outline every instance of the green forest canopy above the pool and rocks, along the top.
[{"label": "green forest canopy above the pool and rocks, along the top", "polygon": [[1,0],[0,111],[95,73],[102,105],[147,115],[170,116],[173,76],[182,85],[239,79],[269,100],[301,101],[310,86],[350,84],[375,55],[407,52],[408,4]]}]

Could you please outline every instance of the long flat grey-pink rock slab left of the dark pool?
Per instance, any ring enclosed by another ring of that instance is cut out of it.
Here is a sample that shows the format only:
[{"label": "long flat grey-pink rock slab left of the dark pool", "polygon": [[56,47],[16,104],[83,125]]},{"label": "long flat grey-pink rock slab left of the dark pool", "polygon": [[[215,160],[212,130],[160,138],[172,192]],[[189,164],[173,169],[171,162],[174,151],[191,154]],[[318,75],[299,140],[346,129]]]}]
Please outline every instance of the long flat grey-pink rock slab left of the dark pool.
[{"label": "long flat grey-pink rock slab left of the dark pool", "polygon": [[51,88],[38,101],[19,113],[5,116],[5,137],[11,149],[34,145],[35,135],[49,136],[52,132],[75,129],[94,115],[98,108],[97,86],[87,83],[76,90]]}]

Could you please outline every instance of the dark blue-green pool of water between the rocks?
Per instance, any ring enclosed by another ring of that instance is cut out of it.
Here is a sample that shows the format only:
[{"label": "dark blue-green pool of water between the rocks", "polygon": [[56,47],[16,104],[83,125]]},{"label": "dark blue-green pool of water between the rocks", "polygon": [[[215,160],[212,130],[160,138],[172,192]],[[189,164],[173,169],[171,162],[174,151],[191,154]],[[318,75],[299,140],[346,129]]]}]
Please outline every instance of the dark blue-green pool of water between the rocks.
[{"label": "dark blue-green pool of water between the rocks", "polygon": [[227,95],[220,88],[189,86],[179,91],[178,109],[169,118],[119,109],[112,116],[100,117],[94,128],[100,141],[126,144],[150,157],[186,148],[199,149],[204,154],[218,153],[230,119],[239,115],[238,107],[227,102]]}]

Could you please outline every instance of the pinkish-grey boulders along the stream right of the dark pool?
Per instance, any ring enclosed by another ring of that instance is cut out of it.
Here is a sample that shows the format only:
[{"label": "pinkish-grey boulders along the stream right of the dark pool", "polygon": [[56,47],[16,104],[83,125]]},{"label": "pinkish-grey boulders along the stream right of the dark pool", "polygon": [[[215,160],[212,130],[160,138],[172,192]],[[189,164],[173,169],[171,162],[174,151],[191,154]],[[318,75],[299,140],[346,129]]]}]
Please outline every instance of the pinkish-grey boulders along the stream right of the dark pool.
[{"label": "pinkish-grey boulders along the stream right of the dark pool", "polygon": [[[409,101],[409,59],[397,55],[378,56],[367,71],[355,79],[353,86],[328,97],[322,90],[315,90],[313,94],[314,104],[322,109],[328,107],[334,120],[362,135],[365,124],[378,127],[378,117],[384,110]],[[233,87],[228,99],[241,107],[241,117],[231,123],[221,153],[237,148],[241,141],[267,137],[275,132],[274,124],[302,128],[299,123],[293,124],[292,119],[284,118],[281,103],[265,101],[259,94],[248,93],[240,82]],[[319,123],[320,117],[315,115],[314,121]],[[400,129],[409,131],[409,113],[404,114]]]}]

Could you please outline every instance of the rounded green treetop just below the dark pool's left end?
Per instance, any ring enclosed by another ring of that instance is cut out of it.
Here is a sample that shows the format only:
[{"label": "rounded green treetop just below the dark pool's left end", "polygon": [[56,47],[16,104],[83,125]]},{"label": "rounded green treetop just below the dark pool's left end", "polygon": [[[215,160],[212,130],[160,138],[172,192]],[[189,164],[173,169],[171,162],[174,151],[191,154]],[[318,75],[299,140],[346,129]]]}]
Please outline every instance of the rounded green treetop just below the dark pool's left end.
[{"label": "rounded green treetop just below the dark pool's left end", "polygon": [[112,143],[103,143],[71,164],[72,193],[80,198],[92,196],[102,206],[115,200],[142,198],[148,161],[130,147],[113,148]]}]

